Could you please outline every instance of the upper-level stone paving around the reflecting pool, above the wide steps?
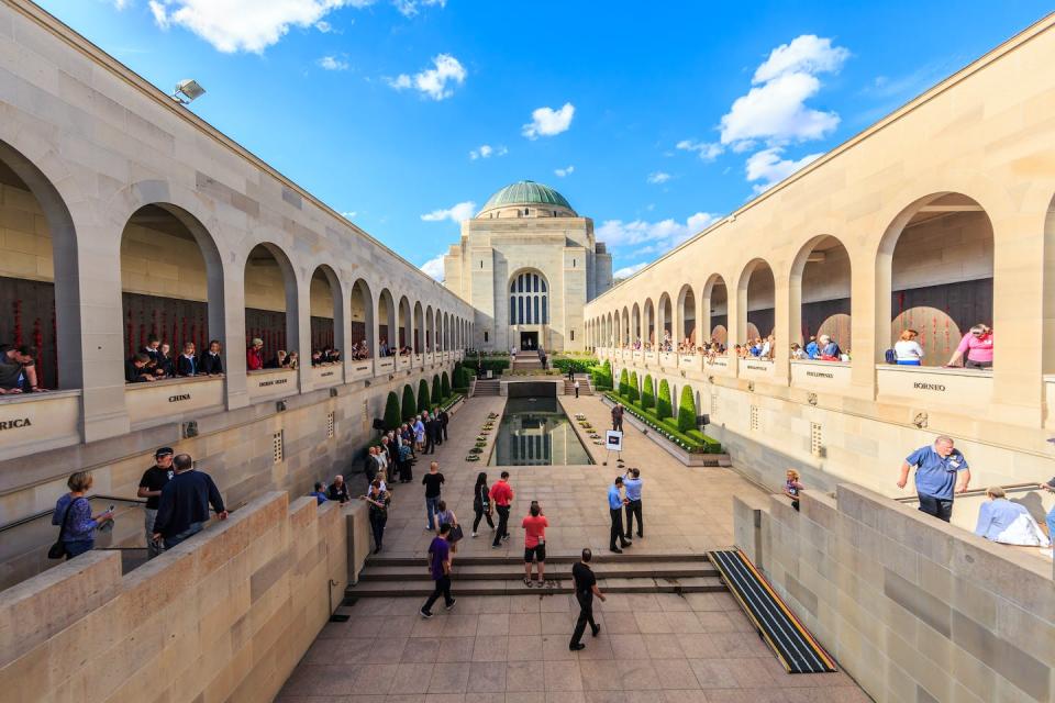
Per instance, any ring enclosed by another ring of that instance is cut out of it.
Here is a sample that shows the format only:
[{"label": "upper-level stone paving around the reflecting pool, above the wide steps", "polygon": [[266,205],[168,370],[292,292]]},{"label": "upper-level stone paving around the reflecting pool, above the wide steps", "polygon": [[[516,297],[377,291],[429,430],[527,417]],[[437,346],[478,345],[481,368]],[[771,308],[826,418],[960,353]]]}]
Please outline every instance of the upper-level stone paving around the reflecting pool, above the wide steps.
[{"label": "upper-level stone paving around the reflecting pool, above the wide steps", "polygon": [[[601,434],[611,426],[609,409],[598,397],[560,399],[569,416],[584,413]],[[501,549],[491,549],[493,533],[481,523],[480,536],[469,537],[473,524],[473,487],[479,471],[486,471],[493,483],[502,467],[487,466],[486,461],[468,462],[465,457],[473,447],[488,413],[501,413],[504,398],[474,398],[457,412],[449,425],[449,440],[436,449],[434,456],[421,456],[414,466],[414,482],[396,483],[385,549],[389,556],[423,556],[429,548],[425,534],[424,489],[421,477],[429,461],[440,462],[446,482],[443,499],[463,524],[466,538],[458,546],[459,555],[506,556],[523,551],[523,531],[520,521],[528,514],[532,500],[542,504],[549,520],[546,549],[552,555],[578,555],[584,547],[600,554],[608,549],[609,514],[608,487],[622,471],[614,457],[609,466],[602,447],[587,443],[592,466],[578,467],[504,467],[511,475],[514,503],[510,514],[512,535]],[[496,423],[497,427],[497,423]],[[635,540],[631,548],[646,554],[690,554],[728,547],[733,543],[733,493],[759,493],[753,483],[726,468],[688,468],[653,444],[640,431],[624,423],[625,450],[622,454],[628,468],[641,469],[645,481],[643,490],[645,539]],[[491,442],[493,442],[491,433]],[[490,451],[490,444],[485,455]],[[497,517],[497,516],[496,516]]]}]

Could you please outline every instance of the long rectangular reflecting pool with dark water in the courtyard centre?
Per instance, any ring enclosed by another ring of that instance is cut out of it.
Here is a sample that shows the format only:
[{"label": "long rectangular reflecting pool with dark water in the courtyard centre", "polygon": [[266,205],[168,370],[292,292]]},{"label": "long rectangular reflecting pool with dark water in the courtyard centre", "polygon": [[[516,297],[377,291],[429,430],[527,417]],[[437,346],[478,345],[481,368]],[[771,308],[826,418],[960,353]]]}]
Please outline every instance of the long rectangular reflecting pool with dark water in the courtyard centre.
[{"label": "long rectangular reflecting pool with dark water in the courtyard centre", "polygon": [[556,398],[510,398],[502,411],[491,466],[580,466],[590,454]]}]

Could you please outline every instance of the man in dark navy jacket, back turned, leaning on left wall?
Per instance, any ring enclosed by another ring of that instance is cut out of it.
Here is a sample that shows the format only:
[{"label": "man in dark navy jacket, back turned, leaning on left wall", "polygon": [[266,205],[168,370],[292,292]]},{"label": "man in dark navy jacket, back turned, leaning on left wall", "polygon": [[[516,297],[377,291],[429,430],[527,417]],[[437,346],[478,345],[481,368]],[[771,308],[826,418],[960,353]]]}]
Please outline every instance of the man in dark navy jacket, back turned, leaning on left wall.
[{"label": "man in dark navy jacket, back turned, leaning on left wall", "polygon": [[195,470],[190,455],[176,455],[173,468],[175,473],[162,489],[157,517],[154,520],[153,537],[155,540],[164,538],[166,549],[201,532],[209,522],[210,504],[216,511],[216,517],[227,518],[220,489],[211,476]]}]

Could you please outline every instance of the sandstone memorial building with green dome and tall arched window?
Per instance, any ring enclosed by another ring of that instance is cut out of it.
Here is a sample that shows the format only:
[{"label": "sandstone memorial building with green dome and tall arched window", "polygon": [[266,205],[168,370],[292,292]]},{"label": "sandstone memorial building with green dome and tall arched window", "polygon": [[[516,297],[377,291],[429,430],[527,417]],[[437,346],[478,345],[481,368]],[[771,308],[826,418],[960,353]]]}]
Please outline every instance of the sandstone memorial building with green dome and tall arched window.
[{"label": "sandstone memorial building with green dome and tall arched window", "polygon": [[477,349],[585,348],[582,308],[612,286],[612,257],[548,186],[522,180],[462,223],[445,284],[476,308]]}]

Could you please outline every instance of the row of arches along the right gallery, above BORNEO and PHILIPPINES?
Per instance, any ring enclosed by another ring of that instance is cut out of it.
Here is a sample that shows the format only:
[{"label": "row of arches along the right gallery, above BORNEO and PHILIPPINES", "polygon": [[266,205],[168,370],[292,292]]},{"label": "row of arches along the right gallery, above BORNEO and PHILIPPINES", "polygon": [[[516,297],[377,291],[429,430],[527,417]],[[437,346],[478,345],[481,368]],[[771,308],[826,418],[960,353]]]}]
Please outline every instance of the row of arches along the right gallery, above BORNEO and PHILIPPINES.
[{"label": "row of arches along the right gallery, above BORNEO and PHILIPPINES", "polygon": [[[874,311],[855,306],[852,294],[866,267],[874,267]],[[787,305],[786,328],[777,328],[778,305]],[[811,236],[784,268],[752,258],[734,274],[712,272],[596,314],[588,333],[593,347],[668,350],[669,343],[671,352],[692,353],[774,335],[781,354],[829,335],[851,352],[854,317],[870,314],[876,342],[867,354],[877,361],[912,330],[922,364],[941,366],[971,326],[992,327],[993,231],[976,200],[955,192],[918,200],[890,223],[870,259],[851,256],[835,235]]]}]

